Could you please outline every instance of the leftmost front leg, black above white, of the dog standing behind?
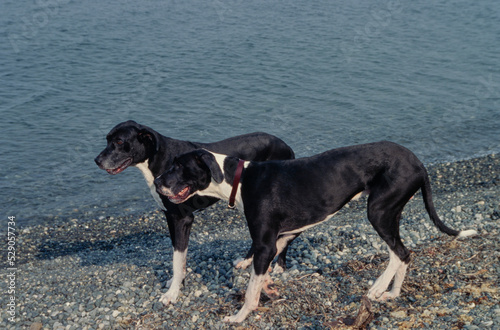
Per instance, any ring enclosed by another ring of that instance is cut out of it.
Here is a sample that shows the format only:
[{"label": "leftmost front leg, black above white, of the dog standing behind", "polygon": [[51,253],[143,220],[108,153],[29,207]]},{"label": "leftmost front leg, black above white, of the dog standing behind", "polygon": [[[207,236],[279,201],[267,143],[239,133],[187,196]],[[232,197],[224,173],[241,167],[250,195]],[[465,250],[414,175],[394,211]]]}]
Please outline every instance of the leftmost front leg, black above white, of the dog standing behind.
[{"label": "leftmost front leg, black above white, of the dog standing behind", "polygon": [[175,214],[167,213],[168,228],[170,238],[174,247],[173,272],[174,276],[169,281],[168,291],[160,297],[160,302],[164,305],[175,303],[181,290],[182,282],[186,276],[186,255],[189,242],[189,233],[194,220],[192,214],[179,219]]}]

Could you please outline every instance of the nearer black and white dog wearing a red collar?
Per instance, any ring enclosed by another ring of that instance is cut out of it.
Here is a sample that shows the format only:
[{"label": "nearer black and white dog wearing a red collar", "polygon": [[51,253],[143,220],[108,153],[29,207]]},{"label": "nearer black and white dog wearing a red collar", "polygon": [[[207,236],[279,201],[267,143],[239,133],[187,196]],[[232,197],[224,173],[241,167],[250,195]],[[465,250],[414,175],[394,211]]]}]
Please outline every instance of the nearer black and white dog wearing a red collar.
[{"label": "nearer black and white dog wearing a red collar", "polygon": [[[155,185],[174,203],[193,194],[220,199],[233,195],[236,206],[245,213],[253,241],[253,269],[245,303],[236,315],[225,318],[228,322],[241,322],[257,308],[261,290],[270,290],[268,267],[290,240],[362,194],[369,195],[368,219],[387,243],[390,256],[387,269],[368,291],[372,300],[383,301],[400,293],[410,252],[401,242],[399,222],[403,207],[419,189],[439,230],[459,237],[476,234],[474,230],[453,230],[439,219],[425,167],[411,151],[391,142],[267,162],[243,162],[196,150],[174,160]],[[393,277],[392,289],[386,291]]]}]

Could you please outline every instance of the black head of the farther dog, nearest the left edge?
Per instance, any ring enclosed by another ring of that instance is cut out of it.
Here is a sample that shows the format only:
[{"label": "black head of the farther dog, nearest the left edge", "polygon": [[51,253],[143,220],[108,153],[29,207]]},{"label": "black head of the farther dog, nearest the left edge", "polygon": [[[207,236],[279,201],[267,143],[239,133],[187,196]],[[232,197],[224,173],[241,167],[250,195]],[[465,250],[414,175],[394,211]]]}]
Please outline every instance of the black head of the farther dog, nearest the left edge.
[{"label": "black head of the farther dog, nearest the left edge", "polygon": [[106,148],[95,158],[109,174],[146,161],[157,151],[159,135],[147,126],[129,120],[116,125],[106,136]]}]

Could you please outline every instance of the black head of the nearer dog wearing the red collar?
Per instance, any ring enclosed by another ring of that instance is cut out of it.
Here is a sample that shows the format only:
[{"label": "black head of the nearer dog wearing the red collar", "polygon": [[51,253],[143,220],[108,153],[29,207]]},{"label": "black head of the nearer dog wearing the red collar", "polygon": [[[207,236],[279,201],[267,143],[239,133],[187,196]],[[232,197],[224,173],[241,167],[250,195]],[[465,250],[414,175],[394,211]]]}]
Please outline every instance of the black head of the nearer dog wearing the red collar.
[{"label": "black head of the nearer dog wearing the red collar", "polygon": [[179,204],[208,188],[212,179],[221,183],[224,180],[222,170],[212,153],[199,149],[176,157],[170,169],[154,183],[159,194]]}]

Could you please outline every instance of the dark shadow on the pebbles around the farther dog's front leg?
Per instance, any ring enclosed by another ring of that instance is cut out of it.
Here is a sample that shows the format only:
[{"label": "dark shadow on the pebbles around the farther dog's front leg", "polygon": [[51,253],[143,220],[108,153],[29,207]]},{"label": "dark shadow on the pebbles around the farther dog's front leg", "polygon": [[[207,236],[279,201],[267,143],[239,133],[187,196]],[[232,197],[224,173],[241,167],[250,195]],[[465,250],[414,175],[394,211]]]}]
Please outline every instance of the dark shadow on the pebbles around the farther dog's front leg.
[{"label": "dark shadow on the pebbles around the farther dog's front leg", "polygon": [[[210,282],[215,271],[230,273],[232,269],[230,258],[218,264],[221,254],[229,253],[236,259],[243,256],[244,249],[250,245],[236,244],[231,240],[212,240],[199,243],[192,240],[189,244],[187,267],[199,274],[199,281]],[[235,250],[235,246],[238,247]],[[82,267],[108,266],[113,264],[129,264],[153,271],[157,280],[166,286],[173,276],[172,258],[173,248],[168,233],[140,232],[104,240],[54,240],[42,242],[35,255],[39,260],[54,260],[57,258],[72,257],[79,261]],[[209,269],[200,267],[200,263],[212,263]],[[215,265],[214,265],[215,263]],[[230,267],[228,266],[230,265]],[[231,274],[227,274],[231,275]]]}]

